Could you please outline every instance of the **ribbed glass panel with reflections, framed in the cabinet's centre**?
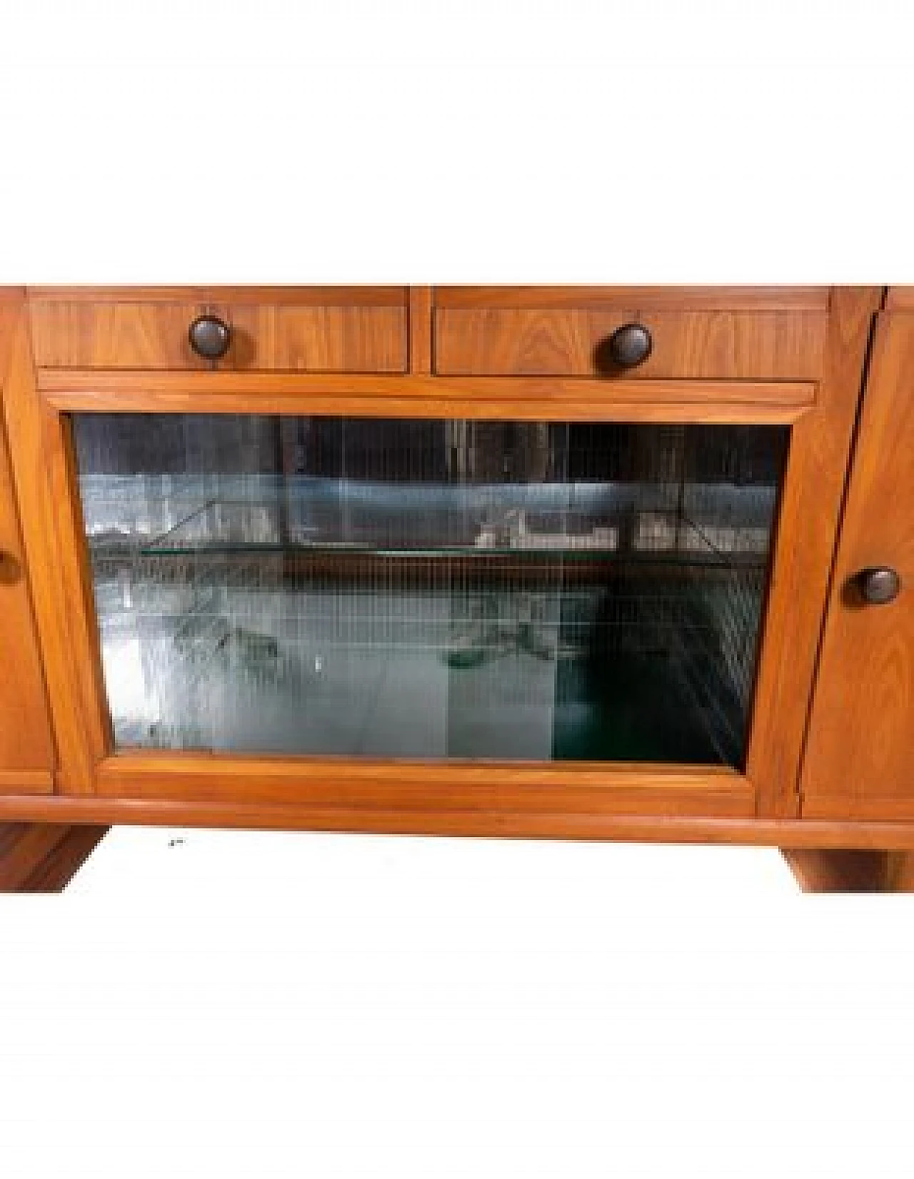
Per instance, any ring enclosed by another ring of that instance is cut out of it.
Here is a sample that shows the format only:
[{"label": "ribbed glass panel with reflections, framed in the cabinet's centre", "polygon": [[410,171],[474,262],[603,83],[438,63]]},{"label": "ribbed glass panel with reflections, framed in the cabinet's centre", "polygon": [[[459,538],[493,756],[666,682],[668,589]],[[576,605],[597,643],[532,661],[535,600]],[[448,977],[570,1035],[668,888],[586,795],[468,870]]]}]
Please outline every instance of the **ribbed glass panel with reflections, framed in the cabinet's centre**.
[{"label": "ribbed glass panel with reflections, framed in the cabinet's centre", "polygon": [[784,429],[73,430],[121,747],[744,758]]}]

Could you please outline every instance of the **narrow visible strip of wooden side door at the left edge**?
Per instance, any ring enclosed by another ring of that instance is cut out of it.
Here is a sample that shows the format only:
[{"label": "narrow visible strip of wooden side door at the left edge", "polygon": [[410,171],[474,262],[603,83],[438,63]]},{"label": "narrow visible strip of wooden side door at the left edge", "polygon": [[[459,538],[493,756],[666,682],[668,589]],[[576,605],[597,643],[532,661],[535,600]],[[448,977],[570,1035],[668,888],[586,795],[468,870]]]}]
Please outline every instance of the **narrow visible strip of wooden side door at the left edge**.
[{"label": "narrow visible strip of wooden side door at the left edge", "polygon": [[0,792],[50,793],[54,751],[0,417]]}]

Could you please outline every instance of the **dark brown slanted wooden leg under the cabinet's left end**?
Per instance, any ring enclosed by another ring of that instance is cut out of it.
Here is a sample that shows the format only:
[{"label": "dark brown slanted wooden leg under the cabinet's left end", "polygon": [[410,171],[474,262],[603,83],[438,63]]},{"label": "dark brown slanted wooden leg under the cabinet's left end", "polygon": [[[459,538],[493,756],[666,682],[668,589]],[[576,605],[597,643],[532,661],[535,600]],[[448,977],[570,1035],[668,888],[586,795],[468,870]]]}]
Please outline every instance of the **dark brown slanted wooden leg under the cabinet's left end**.
[{"label": "dark brown slanted wooden leg under the cabinet's left end", "polygon": [[61,893],[107,830],[0,823],[0,893]]}]

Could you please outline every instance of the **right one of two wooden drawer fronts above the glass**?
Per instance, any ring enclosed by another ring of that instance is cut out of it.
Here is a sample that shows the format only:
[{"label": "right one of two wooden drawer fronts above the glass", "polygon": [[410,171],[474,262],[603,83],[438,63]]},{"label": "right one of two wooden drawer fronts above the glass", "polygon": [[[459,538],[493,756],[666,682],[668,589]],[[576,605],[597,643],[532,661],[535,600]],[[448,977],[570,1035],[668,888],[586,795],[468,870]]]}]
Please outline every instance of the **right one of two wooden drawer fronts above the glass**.
[{"label": "right one of two wooden drawer fronts above the glass", "polygon": [[[647,356],[616,363],[626,324],[650,334]],[[613,376],[817,380],[824,311],[460,308],[435,311],[435,370],[449,376]]]}]

